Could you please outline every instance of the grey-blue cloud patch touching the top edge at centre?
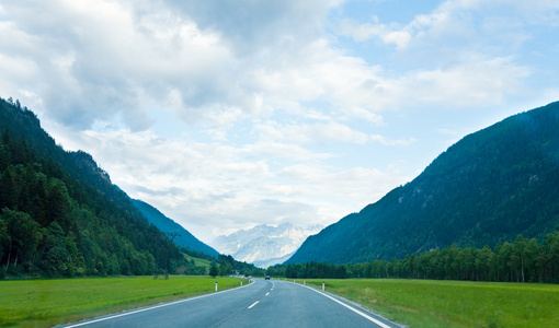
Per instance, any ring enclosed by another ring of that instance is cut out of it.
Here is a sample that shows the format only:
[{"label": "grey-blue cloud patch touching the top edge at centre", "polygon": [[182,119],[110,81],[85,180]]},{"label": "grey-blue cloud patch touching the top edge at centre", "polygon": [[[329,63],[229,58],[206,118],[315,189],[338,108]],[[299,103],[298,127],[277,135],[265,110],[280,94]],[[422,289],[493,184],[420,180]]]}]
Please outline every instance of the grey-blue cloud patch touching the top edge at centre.
[{"label": "grey-blue cloud patch touching the top edge at centre", "polygon": [[202,30],[218,33],[239,56],[252,57],[253,52],[267,52],[277,46],[296,48],[296,45],[311,42],[322,34],[328,11],[343,1],[164,2]]}]

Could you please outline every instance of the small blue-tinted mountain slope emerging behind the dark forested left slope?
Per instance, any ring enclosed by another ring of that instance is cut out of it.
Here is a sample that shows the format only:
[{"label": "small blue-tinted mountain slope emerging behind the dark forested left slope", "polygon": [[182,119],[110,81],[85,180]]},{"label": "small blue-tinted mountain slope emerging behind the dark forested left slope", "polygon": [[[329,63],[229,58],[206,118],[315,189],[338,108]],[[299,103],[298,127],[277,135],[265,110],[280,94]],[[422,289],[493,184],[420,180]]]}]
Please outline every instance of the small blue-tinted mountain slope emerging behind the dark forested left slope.
[{"label": "small blue-tinted mountain slope emerging behind the dark forested left slope", "polygon": [[161,232],[167,234],[176,234],[173,239],[174,244],[203,251],[213,257],[219,256],[217,250],[198,241],[189,231],[182,227],[182,225],[167,218],[163,213],[161,213],[158,209],[153,208],[149,203],[137,199],[134,199],[132,202],[144,214],[144,216],[148,219],[148,222],[157,226],[157,229],[159,229]]}]

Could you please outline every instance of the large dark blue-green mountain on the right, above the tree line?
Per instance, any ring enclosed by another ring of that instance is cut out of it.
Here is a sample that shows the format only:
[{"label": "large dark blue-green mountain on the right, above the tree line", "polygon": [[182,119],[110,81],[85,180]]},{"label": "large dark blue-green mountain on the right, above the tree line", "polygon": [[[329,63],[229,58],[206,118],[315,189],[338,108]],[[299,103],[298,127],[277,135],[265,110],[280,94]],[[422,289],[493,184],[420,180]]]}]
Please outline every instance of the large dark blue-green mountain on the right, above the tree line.
[{"label": "large dark blue-green mountain on the right, above the tree line", "polygon": [[559,231],[559,103],[466,136],[411,183],[310,236],[287,263],[402,258]]}]

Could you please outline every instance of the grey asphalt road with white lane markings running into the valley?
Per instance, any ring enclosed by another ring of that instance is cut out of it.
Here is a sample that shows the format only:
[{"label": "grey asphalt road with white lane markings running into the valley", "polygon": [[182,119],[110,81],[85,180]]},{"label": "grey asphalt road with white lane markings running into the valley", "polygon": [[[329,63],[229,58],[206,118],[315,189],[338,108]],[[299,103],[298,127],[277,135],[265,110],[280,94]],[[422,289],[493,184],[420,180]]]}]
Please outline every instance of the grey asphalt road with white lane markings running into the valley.
[{"label": "grey asphalt road with white lane markings running into the valley", "polygon": [[84,327],[398,327],[345,300],[277,280],[70,324]]}]

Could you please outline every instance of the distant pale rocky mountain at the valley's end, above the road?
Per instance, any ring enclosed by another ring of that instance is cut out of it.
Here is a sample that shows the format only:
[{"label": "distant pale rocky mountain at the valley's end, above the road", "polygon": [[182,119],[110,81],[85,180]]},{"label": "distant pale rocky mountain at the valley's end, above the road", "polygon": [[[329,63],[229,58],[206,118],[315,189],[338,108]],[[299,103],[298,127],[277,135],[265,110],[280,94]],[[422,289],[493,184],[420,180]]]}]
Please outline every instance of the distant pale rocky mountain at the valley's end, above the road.
[{"label": "distant pale rocky mountain at the valley's end, above the road", "polygon": [[235,259],[254,263],[260,268],[284,262],[297,250],[303,242],[322,226],[307,229],[283,223],[278,226],[258,225],[250,230],[240,230],[228,236],[215,238],[210,245]]}]

